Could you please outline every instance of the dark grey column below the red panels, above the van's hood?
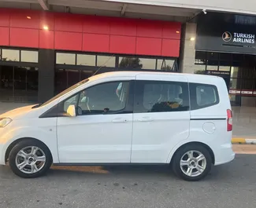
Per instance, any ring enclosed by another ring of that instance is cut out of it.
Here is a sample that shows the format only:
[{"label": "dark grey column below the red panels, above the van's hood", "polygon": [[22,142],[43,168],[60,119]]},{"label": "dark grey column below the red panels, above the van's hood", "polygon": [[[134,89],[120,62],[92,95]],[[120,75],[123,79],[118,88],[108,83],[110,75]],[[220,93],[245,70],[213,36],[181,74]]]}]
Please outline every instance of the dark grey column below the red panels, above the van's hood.
[{"label": "dark grey column below the red panels, above the van's hood", "polygon": [[54,97],[54,66],[54,50],[39,49],[39,103]]}]

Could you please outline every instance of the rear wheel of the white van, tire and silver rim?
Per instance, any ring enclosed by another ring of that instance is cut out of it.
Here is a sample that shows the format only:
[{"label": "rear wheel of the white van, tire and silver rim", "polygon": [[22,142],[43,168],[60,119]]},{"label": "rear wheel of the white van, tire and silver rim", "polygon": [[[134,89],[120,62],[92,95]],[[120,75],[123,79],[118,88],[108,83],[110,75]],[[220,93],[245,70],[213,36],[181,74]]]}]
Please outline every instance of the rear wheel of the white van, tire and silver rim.
[{"label": "rear wheel of the white van, tire and silver rim", "polygon": [[200,181],[210,172],[212,157],[201,144],[187,144],[173,155],[172,166],[173,172],[185,181]]}]

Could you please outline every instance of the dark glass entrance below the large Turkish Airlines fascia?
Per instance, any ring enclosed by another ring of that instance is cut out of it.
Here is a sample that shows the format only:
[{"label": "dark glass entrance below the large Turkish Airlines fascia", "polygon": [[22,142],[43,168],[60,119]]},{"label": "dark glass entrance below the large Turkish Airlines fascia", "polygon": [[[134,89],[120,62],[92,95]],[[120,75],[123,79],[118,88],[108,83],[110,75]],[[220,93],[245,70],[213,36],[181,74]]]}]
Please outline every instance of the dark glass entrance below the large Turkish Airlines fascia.
[{"label": "dark glass entrance below the large Turkish Airlines fascia", "polygon": [[197,51],[195,64],[196,73],[224,78],[232,105],[256,107],[256,56]]}]

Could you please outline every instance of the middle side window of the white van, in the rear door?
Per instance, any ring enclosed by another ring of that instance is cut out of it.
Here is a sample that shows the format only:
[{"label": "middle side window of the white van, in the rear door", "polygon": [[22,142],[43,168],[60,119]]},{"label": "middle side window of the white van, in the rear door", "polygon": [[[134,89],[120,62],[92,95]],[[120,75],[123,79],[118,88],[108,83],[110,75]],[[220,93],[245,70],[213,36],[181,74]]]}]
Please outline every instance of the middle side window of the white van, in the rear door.
[{"label": "middle side window of the white van, in the rear door", "polygon": [[136,84],[135,112],[188,111],[185,82],[139,81]]}]

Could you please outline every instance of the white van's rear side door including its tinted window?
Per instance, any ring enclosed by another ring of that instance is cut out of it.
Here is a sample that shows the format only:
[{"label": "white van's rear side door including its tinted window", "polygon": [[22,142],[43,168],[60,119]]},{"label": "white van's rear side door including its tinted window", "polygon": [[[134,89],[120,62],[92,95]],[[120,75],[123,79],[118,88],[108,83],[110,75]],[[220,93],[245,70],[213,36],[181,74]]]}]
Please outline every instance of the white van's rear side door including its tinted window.
[{"label": "white van's rear side door including its tinted window", "polygon": [[165,163],[172,148],[189,136],[187,78],[167,77],[136,77],[131,162]]}]

